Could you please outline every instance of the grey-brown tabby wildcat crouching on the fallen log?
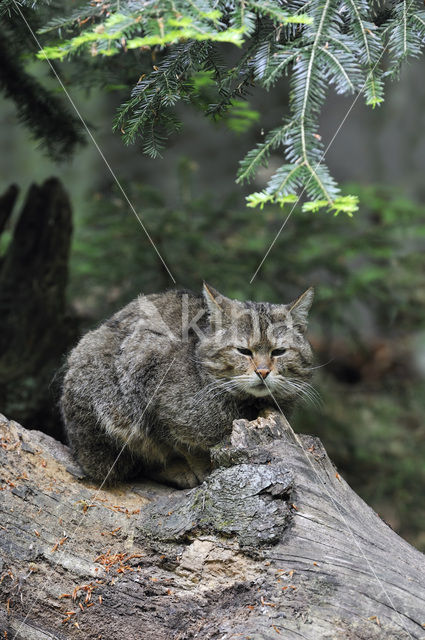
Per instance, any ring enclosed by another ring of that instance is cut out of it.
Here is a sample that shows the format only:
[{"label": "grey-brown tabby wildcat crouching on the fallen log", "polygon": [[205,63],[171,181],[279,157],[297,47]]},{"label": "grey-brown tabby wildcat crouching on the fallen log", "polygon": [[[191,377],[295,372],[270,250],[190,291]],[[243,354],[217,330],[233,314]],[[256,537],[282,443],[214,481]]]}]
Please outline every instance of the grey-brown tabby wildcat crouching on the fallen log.
[{"label": "grey-brown tabby wildcat crouching on the fallen log", "polygon": [[[193,487],[235,418],[308,394],[308,289],[289,305],[239,302],[204,284],[140,296],[86,334],[66,367],[61,410],[92,479],[144,475]],[[120,454],[118,456],[118,454]]]}]

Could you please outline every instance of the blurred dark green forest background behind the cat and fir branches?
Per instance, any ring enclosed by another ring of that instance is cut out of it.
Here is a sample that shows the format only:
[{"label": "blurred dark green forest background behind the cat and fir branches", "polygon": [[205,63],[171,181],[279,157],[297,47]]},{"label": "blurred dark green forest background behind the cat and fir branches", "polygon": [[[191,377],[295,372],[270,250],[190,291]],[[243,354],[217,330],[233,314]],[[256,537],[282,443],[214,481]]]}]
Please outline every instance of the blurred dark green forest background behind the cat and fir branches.
[{"label": "blurred dark green forest background behind the cat and fir branches", "polygon": [[[31,73],[61,95],[47,63],[32,63]],[[288,302],[314,285],[310,337],[322,402],[301,406],[293,426],[319,436],[354,490],[425,551],[423,62],[404,67],[379,109],[359,100],[327,154],[336,179],[358,194],[360,210],[353,218],[294,211],[252,283],[287,212],[247,209],[248,190],[235,185],[235,174],[262,131],[281,119],[288,86],[283,82],[270,94],[253,89],[250,109],[235,108],[220,123],[182,106],[183,131],[157,160],[137,146],[125,147],[112,133],[119,88],[70,92],[177,286],[199,290],[205,279],[228,296]],[[329,96],[321,116],[324,140],[332,138],[351,102]],[[63,347],[58,342],[39,377],[39,364],[24,378],[7,358],[0,365],[8,389],[0,392],[1,410],[57,436],[53,378],[72,343],[138,293],[173,283],[90,139],[70,159],[53,161],[4,96],[0,118],[0,193],[11,184],[19,188],[1,235],[0,260],[6,259],[31,184],[56,176],[72,205],[66,302],[71,337]],[[277,162],[272,155],[255,189],[263,188]],[[36,218],[32,224],[37,227]],[[8,300],[13,305],[13,292]],[[34,321],[41,311],[34,308]],[[48,324],[44,329],[48,334]],[[14,347],[21,363],[26,348],[21,338]]]}]

